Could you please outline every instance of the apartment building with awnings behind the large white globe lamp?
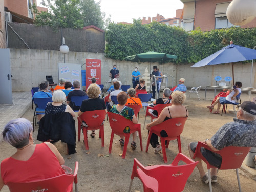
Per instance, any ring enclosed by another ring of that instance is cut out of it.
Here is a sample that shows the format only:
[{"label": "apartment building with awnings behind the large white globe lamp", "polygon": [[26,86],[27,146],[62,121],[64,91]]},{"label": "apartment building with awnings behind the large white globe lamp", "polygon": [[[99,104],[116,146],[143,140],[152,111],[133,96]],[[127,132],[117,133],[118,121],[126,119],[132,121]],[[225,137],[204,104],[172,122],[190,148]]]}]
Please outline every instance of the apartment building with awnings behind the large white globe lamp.
[{"label": "apartment building with awnings behind the large white globe lamp", "polygon": [[[184,3],[181,27],[191,31],[200,27],[202,31],[222,29],[234,26],[226,15],[231,1],[227,0],[181,0]],[[237,26],[239,27],[239,26]],[[256,27],[256,19],[241,28]]]}]

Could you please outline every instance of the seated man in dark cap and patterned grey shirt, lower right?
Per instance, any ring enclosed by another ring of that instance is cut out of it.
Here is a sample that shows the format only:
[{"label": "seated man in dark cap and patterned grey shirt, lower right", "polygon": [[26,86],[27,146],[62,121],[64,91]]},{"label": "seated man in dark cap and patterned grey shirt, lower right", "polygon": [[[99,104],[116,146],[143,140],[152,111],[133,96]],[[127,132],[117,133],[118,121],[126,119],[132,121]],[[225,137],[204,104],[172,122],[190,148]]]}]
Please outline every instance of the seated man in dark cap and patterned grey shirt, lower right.
[{"label": "seated man in dark cap and patterned grey shirt, lower right", "polygon": [[[234,122],[226,123],[216,132],[211,139],[205,139],[206,143],[212,151],[219,151],[228,146],[238,147],[256,147],[256,104],[251,101],[244,101],[237,111]],[[188,150],[191,158],[193,158],[197,142],[189,143]],[[201,153],[205,159],[213,166],[220,168],[222,158],[219,154],[206,150],[201,147]],[[199,170],[203,182],[208,183],[208,174],[204,172],[202,160],[199,161],[197,168]],[[217,168],[211,168],[211,182],[217,182]]]}]

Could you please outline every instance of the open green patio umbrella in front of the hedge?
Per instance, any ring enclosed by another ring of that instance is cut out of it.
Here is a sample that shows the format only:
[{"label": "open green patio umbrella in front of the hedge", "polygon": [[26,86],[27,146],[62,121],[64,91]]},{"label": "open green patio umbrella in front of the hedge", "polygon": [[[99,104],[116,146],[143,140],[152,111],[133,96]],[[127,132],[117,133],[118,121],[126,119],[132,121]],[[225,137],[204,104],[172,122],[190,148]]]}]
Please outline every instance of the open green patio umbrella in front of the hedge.
[{"label": "open green patio umbrella in front of the hedge", "polygon": [[154,51],[148,51],[146,53],[139,53],[136,55],[125,57],[125,60],[127,60],[127,61],[150,62],[150,73],[151,73],[151,63],[152,62],[167,61],[170,59],[177,59],[177,56],[169,55],[166,53],[158,53],[158,52],[154,52]]}]

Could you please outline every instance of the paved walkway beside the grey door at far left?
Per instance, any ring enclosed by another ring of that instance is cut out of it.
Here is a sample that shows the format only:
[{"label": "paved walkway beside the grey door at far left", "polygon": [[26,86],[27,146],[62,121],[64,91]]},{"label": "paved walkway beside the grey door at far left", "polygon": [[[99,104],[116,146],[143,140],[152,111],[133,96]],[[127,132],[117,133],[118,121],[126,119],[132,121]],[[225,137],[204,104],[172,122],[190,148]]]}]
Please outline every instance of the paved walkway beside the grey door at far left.
[{"label": "paved walkway beside the grey door at far left", "polygon": [[6,123],[15,118],[20,118],[29,109],[32,102],[30,91],[12,92],[13,104],[0,104],[0,130]]}]

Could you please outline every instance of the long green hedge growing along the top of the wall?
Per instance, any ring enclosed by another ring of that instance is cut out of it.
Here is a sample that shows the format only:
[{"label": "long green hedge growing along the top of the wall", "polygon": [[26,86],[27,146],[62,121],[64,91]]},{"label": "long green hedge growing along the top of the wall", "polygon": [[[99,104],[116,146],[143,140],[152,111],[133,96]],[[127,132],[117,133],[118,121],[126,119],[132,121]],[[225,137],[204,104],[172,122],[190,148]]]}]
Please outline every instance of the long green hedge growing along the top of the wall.
[{"label": "long green hedge growing along the top of the wall", "polygon": [[253,48],[256,45],[256,28],[228,29],[202,32],[200,28],[190,33],[179,27],[157,22],[141,25],[110,23],[106,31],[106,57],[124,60],[124,57],[147,51],[177,55],[176,63],[195,63],[230,44]]}]

